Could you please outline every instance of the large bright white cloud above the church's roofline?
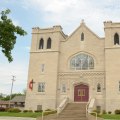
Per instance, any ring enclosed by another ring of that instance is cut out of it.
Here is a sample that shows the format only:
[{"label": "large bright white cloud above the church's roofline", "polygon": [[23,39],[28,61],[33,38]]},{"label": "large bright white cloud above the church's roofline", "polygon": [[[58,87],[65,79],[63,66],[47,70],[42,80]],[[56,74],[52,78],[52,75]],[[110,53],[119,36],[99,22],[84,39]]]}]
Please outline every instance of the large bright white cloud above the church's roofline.
[{"label": "large bright white cloud above the church's roofline", "polygon": [[23,0],[22,5],[43,12],[40,18],[48,24],[62,25],[67,33],[85,19],[90,28],[102,36],[103,22],[119,21],[120,13],[119,0]]}]

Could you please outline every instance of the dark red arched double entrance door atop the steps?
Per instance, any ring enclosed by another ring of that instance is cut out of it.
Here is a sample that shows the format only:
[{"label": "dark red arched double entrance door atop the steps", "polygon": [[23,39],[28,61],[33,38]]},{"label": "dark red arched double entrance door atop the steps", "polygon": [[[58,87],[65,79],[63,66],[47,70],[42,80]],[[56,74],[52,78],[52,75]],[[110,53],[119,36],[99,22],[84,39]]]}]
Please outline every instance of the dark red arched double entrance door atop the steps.
[{"label": "dark red arched double entrance door atop the steps", "polygon": [[84,84],[80,84],[74,87],[74,101],[75,102],[88,102],[89,99],[89,87]]}]

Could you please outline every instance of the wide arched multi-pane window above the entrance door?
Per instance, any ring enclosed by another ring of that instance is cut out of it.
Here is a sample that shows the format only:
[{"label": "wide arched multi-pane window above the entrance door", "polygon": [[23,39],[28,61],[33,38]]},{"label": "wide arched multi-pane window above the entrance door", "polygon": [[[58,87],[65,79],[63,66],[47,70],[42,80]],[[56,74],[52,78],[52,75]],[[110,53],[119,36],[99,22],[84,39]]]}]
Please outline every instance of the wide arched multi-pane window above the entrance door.
[{"label": "wide arched multi-pane window above the entrance door", "polygon": [[70,68],[74,70],[94,69],[94,59],[87,54],[78,54],[70,60]]}]

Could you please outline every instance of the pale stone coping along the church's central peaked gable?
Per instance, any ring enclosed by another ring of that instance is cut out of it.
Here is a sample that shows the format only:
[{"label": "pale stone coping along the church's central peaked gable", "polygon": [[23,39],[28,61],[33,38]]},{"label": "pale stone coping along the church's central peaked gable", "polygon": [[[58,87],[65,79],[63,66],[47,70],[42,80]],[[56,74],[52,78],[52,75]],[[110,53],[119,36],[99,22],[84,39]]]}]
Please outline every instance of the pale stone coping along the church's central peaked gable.
[{"label": "pale stone coping along the church's central peaked gable", "polygon": [[85,25],[85,23],[82,21],[81,24],[80,24],[80,26],[79,26],[70,36],[68,36],[66,40],[68,40],[70,37],[72,37],[72,36],[74,35],[74,33],[75,33],[76,31],[78,31],[81,27],[85,27],[85,28],[86,28],[89,32],[91,32],[94,36],[96,36],[98,39],[101,39],[101,38],[100,38],[98,35],[96,35],[92,30],[90,30],[90,28],[88,28],[88,27]]}]

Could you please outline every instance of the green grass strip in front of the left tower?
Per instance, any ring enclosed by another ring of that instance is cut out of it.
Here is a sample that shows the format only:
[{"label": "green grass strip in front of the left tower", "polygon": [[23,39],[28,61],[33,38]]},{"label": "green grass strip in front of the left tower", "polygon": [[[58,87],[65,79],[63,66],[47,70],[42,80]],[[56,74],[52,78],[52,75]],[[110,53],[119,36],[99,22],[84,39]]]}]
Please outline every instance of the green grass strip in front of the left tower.
[{"label": "green grass strip in front of the left tower", "polygon": [[32,112],[26,112],[26,113],[10,113],[10,112],[0,112],[0,116],[14,116],[14,117],[33,117],[36,118],[38,116],[41,116],[41,113],[32,113]]}]

